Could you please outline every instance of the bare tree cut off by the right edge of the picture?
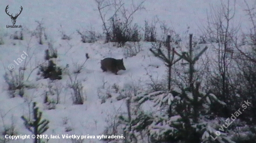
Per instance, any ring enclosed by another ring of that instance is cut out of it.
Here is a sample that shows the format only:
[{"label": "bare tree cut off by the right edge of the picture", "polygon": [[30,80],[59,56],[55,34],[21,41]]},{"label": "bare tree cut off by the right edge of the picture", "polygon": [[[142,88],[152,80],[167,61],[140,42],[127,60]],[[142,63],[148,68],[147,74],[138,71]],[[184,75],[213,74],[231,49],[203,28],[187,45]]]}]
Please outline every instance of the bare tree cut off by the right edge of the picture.
[{"label": "bare tree cut off by the right edge of the picture", "polygon": [[[254,2],[256,4],[256,1]],[[256,6],[251,5],[244,0],[246,6],[245,12],[249,17],[250,28],[249,33],[243,33],[246,41],[242,41],[241,45],[236,46],[239,51],[237,54],[237,74],[236,82],[243,83],[237,86],[237,94],[243,100],[250,99],[252,103],[256,103]],[[256,113],[254,112],[256,105],[252,104],[244,112],[243,121],[249,125],[255,125]],[[256,134],[255,129],[251,128],[251,132]]]}]

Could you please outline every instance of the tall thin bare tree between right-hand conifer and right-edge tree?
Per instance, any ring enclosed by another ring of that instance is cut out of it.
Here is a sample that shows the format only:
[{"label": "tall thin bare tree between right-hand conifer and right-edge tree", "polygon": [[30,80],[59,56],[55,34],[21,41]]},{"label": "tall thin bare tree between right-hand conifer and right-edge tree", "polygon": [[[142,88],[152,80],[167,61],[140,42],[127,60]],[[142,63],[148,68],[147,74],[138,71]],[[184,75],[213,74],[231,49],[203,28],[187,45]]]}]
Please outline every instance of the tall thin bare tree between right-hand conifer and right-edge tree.
[{"label": "tall thin bare tree between right-hand conifer and right-edge tree", "polygon": [[[232,25],[236,12],[236,0],[231,7],[230,0],[227,4],[221,2],[220,7],[211,7],[211,15],[207,15],[208,25],[204,27],[206,37],[210,40],[213,50],[217,54],[212,67],[210,84],[219,91],[216,95],[226,103],[231,99],[231,66],[236,45],[239,25]],[[228,104],[229,105],[229,104]],[[224,114],[226,114],[224,112]]]}]

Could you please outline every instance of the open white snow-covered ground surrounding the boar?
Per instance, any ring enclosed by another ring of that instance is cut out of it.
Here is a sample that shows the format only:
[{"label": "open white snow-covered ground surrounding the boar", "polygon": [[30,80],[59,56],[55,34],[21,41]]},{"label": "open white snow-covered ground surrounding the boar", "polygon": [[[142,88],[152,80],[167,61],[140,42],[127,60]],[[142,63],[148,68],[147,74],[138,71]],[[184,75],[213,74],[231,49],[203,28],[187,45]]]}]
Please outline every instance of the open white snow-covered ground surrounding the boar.
[{"label": "open white snow-covered ground surrounding the boar", "polygon": [[[134,22],[143,27],[144,20],[151,21],[157,17],[161,21],[165,21],[176,33],[180,33],[182,37],[188,36],[182,35],[188,30],[188,27],[189,33],[199,35],[200,28],[207,22],[206,17],[210,7],[219,4],[219,0],[146,0],[144,2],[146,9],[135,13]],[[24,28],[24,40],[10,38],[15,31],[20,31],[20,29],[6,28],[6,25],[12,24],[10,17],[4,12],[7,5],[9,5],[8,12],[10,13],[17,13],[20,6],[23,7],[15,25],[22,25]],[[241,27],[246,28],[249,24],[244,16],[243,8],[242,0],[237,0],[236,21],[237,23],[241,22]],[[60,135],[60,137],[67,134],[102,135],[105,126],[108,125],[106,120],[126,109],[125,101],[118,101],[115,98],[107,99],[105,103],[101,104],[98,95],[99,91],[102,91],[103,85],[108,88],[116,84],[120,89],[125,89],[130,85],[144,86],[150,81],[147,72],[153,78],[162,79],[165,76],[164,64],[149,51],[150,43],[141,42],[142,51],[136,56],[125,58],[123,48],[116,48],[111,43],[103,44],[103,40],[93,44],[81,42],[81,37],[76,30],[86,29],[102,33],[102,23],[94,0],[1,0],[0,10],[0,36],[4,39],[4,44],[0,45],[1,132],[4,130],[4,126],[14,124],[17,135],[32,135],[25,128],[20,117],[28,116],[29,102],[36,101],[40,111],[43,112],[43,118],[50,121],[49,129],[44,134]],[[68,70],[72,72],[76,68],[76,64],[81,65],[86,60],[85,54],[88,53],[90,58],[78,75],[86,95],[83,105],[72,104],[71,90],[67,88],[69,77],[63,71],[62,80],[56,83],[64,87],[60,96],[61,103],[54,110],[47,110],[44,106],[43,99],[44,93],[48,90],[48,80],[36,80],[40,78],[37,75],[38,69],[29,76],[33,68],[44,61],[44,51],[48,48],[47,43],[40,45],[37,38],[30,39],[31,33],[29,32],[34,31],[38,25],[36,20],[42,20],[48,40],[52,41],[54,48],[58,51],[57,66],[65,68],[68,64]],[[61,40],[60,31],[65,31],[67,35],[71,35],[72,39]],[[34,88],[26,89],[23,98],[19,96],[9,98],[7,84],[3,76],[6,72],[9,73],[7,68],[9,64],[15,65],[13,73],[19,72],[19,68],[25,61],[16,65],[13,60],[17,60],[23,51],[28,54],[25,79],[29,76],[28,84],[33,85]],[[119,75],[103,73],[100,61],[105,57],[123,58],[127,70],[119,71]],[[70,128],[71,131],[66,132],[67,128]],[[85,139],[84,143],[100,143],[100,141],[99,139]],[[10,143],[23,143],[23,140],[11,140]],[[24,143],[32,143],[32,139],[26,139]],[[50,139],[49,143],[71,143],[71,140]]]}]

